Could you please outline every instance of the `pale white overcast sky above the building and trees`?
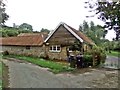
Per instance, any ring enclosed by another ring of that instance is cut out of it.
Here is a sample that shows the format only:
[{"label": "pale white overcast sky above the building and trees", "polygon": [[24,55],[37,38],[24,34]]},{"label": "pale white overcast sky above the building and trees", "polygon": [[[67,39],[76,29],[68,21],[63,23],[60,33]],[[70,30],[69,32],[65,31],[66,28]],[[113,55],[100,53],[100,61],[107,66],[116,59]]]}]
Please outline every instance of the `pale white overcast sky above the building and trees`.
[{"label": "pale white overcast sky above the building and trees", "polygon": [[[85,0],[7,0],[6,12],[10,17],[6,25],[28,23],[34,31],[42,28],[54,30],[60,22],[78,29],[83,20],[103,25],[97,17],[85,17],[91,14],[84,8],[84,2]],[[111,40],[112,37],[115,37],[114,32],[109,31],[106,38]]]}]

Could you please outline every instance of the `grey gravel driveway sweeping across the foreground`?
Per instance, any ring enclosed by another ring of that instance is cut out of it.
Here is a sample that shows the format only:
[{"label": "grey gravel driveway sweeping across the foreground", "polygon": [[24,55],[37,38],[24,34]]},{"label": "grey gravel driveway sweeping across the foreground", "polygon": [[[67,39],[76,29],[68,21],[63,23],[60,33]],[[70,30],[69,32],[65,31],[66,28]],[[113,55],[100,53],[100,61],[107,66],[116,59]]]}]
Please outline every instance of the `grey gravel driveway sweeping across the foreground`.
[{"label": "grey gravel driveway sweeping across the foreground", "polygon": [[30,63],[3,60],[9,67],[10,88],[117,88],[118,71],[92,69],[82,74],[53,74]]}]

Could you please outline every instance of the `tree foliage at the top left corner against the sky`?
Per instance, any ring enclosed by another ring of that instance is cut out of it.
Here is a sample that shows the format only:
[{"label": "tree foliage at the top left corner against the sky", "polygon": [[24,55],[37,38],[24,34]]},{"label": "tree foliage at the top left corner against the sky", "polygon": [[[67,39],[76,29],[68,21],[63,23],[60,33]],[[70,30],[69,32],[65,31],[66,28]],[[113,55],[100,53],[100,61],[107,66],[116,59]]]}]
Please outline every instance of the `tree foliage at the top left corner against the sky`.
[{"label": "tree foliage at the top left corner against the sky", "polygon": [[5,4],[3,0],[0,0],[0,26],[4,25],[9,16],[5,12]]}]

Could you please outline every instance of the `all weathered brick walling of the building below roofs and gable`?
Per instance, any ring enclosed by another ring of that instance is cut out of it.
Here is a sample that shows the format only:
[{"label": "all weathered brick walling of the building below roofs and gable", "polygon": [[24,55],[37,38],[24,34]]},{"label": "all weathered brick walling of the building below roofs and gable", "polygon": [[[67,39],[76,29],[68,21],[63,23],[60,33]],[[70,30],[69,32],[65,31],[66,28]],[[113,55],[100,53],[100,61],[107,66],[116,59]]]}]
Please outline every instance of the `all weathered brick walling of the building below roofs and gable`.
[{"label": "all weathered brick walling of the building below roofs and gable", "polygon": [[[0,46],[1,47],[1,46]],[[90,50],[87,45],[84,45],[84,50]],[[10,54],[25,55],[25,56],[36,56],[36,57],[48,57],[49,59],[55,60],[67,60],[66,47],[61,47],[60,52],[51,52],[49,46],[31,46],[30,49],[26,49],[25,46],[2,46],[2,51],[8,51]]]}]

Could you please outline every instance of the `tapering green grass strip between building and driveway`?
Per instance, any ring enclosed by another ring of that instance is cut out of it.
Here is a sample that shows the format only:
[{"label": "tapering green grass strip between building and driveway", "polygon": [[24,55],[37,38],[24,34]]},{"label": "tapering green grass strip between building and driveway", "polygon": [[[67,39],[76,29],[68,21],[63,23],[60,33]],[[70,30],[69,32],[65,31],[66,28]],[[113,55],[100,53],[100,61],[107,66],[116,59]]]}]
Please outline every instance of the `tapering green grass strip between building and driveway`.
[{"label": "tapering green grass strip between building and driveway", "polygon": [[28,56],[21,56],[21,55],[5,55],[3,58],[16,58],[19,60],[24,60],[33,64],[36,64],[40,67],[45,67],[49,68],[50,71],[53,73],[60,73],[60,72],[65,72],[65,71],[72,71],[73,68],[70,68],[69,65],[65,65],[62,63],[50,61],[50,60],[45,60],[37,57],[28,57]]}]

